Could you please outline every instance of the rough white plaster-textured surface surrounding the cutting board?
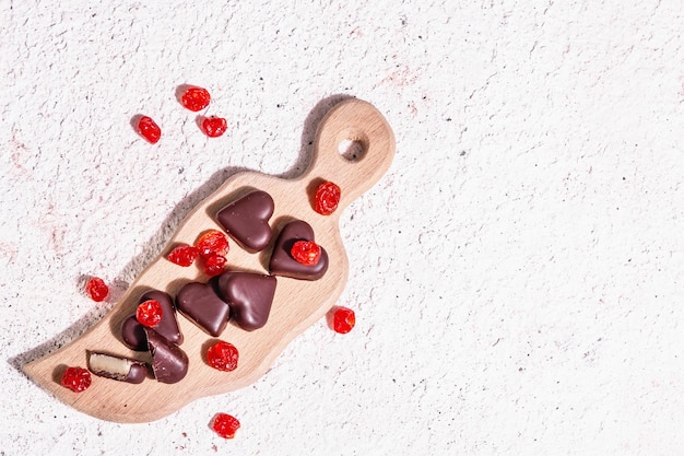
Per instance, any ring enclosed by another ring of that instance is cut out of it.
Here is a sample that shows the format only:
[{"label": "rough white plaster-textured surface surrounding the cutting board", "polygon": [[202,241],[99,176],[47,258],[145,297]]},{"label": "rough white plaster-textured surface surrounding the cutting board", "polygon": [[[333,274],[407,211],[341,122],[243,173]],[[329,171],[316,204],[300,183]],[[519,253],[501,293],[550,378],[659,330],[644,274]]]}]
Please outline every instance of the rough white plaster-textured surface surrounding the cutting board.
[{"label": "rough white plaster-textured surface surrounding the cutting board", "polygon": [[[684,454],[681,0],[95,3],[0,0],[0,455]],[[321,321],[253,386],[149,424],[17,370],[226,177],[304,169],[340,95],[397,136],[343,215],[352,334]]]}]

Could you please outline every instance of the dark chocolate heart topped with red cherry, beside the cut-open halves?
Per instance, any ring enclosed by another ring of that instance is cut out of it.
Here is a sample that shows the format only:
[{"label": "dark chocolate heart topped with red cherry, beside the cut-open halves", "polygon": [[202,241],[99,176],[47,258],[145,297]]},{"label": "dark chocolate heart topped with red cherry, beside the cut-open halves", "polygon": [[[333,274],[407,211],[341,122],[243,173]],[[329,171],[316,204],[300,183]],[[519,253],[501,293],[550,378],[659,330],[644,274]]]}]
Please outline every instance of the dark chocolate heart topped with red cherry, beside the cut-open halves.
[{"label": "dark chocolate heart topped with red cherry, beside the cut-open halves", "polygon": [[[154,330],[169,342],[181,344],[182,334],[178,327],[176,309],[174,308],[172,297],[163,291],[150,290],[140,296],[138,304],[144,303],[149,300],[155,300],[162,305],[162,320],[154,327]],[[131,350],[148,350],[148,339],[145,338],[144,326],[135,319],[135,315],[130,315],[121,324],[121,338],[123,339],[126,347]]]}]

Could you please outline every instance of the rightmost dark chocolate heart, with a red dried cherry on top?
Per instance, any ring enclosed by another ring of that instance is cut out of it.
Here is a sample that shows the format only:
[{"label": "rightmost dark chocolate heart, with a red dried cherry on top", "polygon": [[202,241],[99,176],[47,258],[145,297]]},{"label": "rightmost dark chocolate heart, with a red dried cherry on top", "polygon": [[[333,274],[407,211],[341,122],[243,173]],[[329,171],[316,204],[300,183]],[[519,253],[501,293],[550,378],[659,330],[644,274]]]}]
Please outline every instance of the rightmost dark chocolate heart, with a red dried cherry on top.
[{"label": "rightmost dark chocolate heart, with a red dried cherry on top", "polygon": [[297,241],[315,241],[314,229],[302,220],[287,223],[278,236],[269,262],[272,274],[302,280],[317,280],[328,270],[328,253],[320,248],[320,259],[316,265],[303,265],[292,257],[291,250]]}]

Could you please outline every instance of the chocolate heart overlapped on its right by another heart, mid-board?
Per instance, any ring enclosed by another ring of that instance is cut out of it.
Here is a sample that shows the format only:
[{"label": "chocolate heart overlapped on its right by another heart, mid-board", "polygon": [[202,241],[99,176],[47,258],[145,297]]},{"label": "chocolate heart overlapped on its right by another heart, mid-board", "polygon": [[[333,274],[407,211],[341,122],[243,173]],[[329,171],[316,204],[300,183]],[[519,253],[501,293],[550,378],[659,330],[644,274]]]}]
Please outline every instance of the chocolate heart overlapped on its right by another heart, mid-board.
[{"label": "chocolate heart overlapped on its right by another heart, mid-board", "polygon": [[231,307],[210,283],[190,282],[182,285],[176,295],[178,312],[211,336],[220,336],[228,324]]}]

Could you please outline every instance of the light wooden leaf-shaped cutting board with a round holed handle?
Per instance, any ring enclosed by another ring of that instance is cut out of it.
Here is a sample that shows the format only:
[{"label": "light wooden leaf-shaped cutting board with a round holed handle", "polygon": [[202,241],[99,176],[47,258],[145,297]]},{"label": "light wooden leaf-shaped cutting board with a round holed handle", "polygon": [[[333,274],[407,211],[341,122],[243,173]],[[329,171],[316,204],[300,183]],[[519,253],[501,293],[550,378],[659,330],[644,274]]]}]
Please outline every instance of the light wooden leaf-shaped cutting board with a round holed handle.
[{"label": "light wooden leaf-shaped cutting board with a round holed handle", "polygon": [[[349,141],[361,148],[356,159],[340,153],[340,144]],[[340,214],[385,174],[393,155],[394,137],[382,115],[359,100],[341,102],[320,121],[311,163],[302,176],[282,179],[253,172],[232,176],[187,215],[161,255],[140,273],[99,323],[60,350],[24,365],[24,372],[71,407],[116,422],[157,420],[200,397],[224,394],[253,383],[268,371],[290,341],[335,304],[349,273],[339,232]],[[321,179],[332,180],[342,189],[340,206],[331,215],[318,214],[312,209],[311,194]],[[199,267],[178,267],[168,261],[166,255],[178,244],[193,244],[199,233],[222,230],[215,221],[216,211],[255,189],[267,191],[274,200],[275,209],[270,219],[273,238],[257,254],[247,253],[232,242],[227,269],[268,273],[278,233],[288,221],[299,219],[311,225],[316,242],[328,252],[329,268],[325,276],[316,281],[279,277],[269,320],[255,331],[228,323],[224,332],[213,338],[178,314],[185,337],[180,348],[189,358],[188,374],[179,383],[169,385],[146,378],[133,385],[93,375],[91,387],[83,393],[62,387],[61,373],[67,366],[85,367],[89,350],[150,361],[149,353],[133,352],[123,346],[121,321],[134,313],[139,297],[149,290],[161,290],[175,296],[185,283],[207,282],[209,278]],[[228,341],[239,350],[239,365],[235,371],[217,371],[204,361],[207,347],[216,339]]]}]

